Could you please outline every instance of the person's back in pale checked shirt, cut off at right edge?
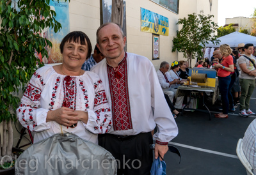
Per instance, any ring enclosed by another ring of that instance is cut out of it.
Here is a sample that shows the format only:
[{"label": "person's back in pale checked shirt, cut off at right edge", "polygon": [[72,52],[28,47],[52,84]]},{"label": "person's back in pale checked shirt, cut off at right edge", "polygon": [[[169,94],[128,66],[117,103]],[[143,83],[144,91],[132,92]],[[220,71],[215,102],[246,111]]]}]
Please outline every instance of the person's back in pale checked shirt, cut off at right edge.
[{"label": "person's back in pale checked shirt, cut off at right edge", "polygon": [[250,123],[243,138],[243,152],[248,162],[253,167],[253,174],[256,174],[256,119]]}]

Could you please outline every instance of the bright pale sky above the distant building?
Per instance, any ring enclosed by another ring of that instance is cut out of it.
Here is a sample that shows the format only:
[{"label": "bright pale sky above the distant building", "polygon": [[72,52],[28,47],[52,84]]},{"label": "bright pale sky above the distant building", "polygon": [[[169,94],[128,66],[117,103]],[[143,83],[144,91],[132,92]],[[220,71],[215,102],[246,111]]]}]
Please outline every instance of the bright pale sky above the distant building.
[{"label": "bright pale sky above the distant building", "polygon": [[218,1],[218,26],[225,25],[225,18],[250,17],[256,0],[219,0]]}]

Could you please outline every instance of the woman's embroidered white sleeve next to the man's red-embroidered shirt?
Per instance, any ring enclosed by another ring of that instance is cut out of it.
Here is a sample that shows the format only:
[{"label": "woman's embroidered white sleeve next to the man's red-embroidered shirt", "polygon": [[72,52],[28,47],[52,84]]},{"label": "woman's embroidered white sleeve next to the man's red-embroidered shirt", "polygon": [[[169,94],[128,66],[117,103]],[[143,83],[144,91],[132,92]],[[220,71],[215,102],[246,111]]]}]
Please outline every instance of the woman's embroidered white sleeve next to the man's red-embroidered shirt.
[{"label": "woman's embroidered white sleeve next to the man's red-embroidered shirt", "polygon": [[84,124],[92,133],[106,133],[112,126],[112,115],[101,80],[93,84],[95,98],[93,109],[87,109],[88,122]]}]

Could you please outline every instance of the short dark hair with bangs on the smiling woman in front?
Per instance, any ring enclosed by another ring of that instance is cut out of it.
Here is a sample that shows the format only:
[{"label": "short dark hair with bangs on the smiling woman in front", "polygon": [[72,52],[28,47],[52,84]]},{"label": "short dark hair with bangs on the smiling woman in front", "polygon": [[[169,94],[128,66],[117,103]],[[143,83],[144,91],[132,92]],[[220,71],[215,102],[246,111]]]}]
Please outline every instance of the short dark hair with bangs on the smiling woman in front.
[{"label": "short dark hair with bangs on the smiling woman in front", "polygon": [[[86,42],[85,42],[84,38],[85,38]],[[88,36],[85,33],[83,33],[82,31],[72,31],[72,32],[68,33],[62,39],[62,41],[60,43],[60,52],[61,52],[61,54],[63,53],[65,43],[67,43],[67,42],[78,43],[79,39],[80,39],[81,45],[86,45],[86,43],[87,43],[88,53],[87,53],[86,59],[88,57],[90,57],[91,53],[92,53],[92,44],[91,44],[90,39],[88,38]]]}]

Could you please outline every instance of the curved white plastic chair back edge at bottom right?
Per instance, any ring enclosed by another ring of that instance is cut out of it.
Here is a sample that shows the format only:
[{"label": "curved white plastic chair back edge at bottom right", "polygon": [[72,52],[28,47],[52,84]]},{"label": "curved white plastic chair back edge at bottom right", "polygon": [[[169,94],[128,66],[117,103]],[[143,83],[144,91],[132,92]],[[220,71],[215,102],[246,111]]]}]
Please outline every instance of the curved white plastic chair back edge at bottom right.
[{"label": "curved white plastic chair back edge at bottom right", "polygon": [[252,165],[249,163],[246,156],[244,155],[242,146],[243,146],[243,139],[239,139],[239,141],[237,142],[237,146],[236,146],[236,154],[237,154],[239,160],[241,161],[241,163],[244,165],[247,175],[253,175]]}]

